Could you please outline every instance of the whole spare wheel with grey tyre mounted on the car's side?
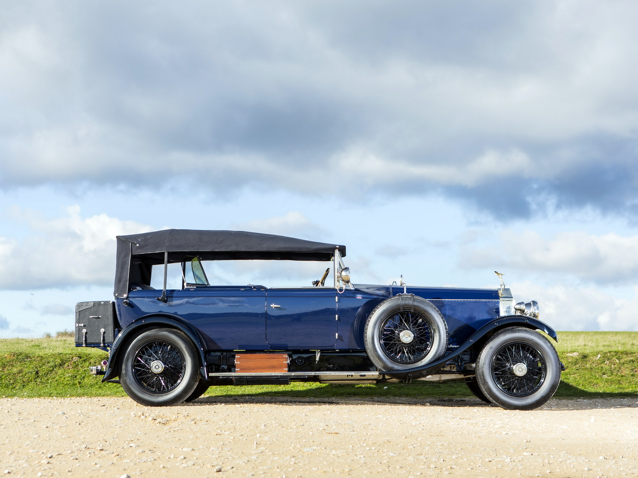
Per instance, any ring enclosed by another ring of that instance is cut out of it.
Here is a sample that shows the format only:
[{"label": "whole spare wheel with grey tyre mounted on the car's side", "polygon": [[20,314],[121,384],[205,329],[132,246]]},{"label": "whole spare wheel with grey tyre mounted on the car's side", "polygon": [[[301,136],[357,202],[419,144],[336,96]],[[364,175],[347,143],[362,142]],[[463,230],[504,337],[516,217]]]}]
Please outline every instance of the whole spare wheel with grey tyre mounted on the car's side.
[{"label": "whole spare wheel with grey tyre mounted on the car's side", "polygon": [[445,353],[447,324],[438,308],[414,294],[397,294],[367,318],[364,344],[382,372],[426,365]]}]

